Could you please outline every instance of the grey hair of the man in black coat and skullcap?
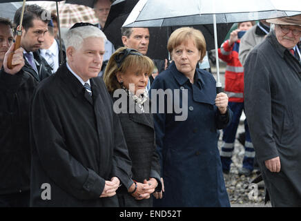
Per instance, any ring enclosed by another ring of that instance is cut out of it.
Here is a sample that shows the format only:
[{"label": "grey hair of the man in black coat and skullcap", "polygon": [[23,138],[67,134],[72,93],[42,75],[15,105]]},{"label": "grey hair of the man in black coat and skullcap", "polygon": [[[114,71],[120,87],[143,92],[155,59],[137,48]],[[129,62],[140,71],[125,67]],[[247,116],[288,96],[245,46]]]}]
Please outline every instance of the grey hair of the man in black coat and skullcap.
[{"label": "grey hair of the man in black coat and skullcap", "polygon": [[78,50],[81,48],[84,39],[88,37],[100,37],[106,41],[106,35],[99,28],[95,26],[82,26],[68,30],[65,43],[66,49],[72,46]]}]

